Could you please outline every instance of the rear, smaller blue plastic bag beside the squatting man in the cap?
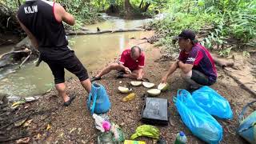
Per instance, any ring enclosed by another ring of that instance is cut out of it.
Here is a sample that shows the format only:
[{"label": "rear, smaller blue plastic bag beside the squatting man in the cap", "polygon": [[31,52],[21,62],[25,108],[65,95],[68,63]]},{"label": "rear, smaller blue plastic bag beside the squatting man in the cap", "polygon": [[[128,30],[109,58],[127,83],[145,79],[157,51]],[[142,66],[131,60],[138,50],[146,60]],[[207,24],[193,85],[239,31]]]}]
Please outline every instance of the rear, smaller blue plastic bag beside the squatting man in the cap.
[{"label": "rear, smaller blue plastic bag beside the squatting man in the cap", "polygon": [[209,86],[202,86],[192,93],[192,98],[198,106],[202,107],[211,115],[218,118],[233,118],[233,112],[230,103]]}]

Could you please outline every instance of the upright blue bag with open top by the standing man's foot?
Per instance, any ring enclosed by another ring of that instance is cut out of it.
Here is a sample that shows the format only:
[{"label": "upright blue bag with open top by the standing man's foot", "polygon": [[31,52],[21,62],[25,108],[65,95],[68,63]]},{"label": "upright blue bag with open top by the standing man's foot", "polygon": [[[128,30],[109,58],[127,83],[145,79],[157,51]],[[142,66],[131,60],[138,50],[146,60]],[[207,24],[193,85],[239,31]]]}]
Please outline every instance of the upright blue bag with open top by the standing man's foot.
[{"label": "upright blue bag with open top by the standing man's foot", "polygon": [[87,107],[91,114],[103,114],[110,110],[110,99],[109,95],[106,94],[105,87],[93,83],[89,94]]}]

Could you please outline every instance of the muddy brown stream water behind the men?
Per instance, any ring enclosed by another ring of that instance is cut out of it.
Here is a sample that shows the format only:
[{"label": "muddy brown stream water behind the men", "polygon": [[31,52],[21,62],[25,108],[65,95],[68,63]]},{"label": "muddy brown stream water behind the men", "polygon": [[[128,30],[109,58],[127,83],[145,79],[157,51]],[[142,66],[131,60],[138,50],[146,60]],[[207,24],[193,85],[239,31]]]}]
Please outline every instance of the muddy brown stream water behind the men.
[{"label": "muddy brown stream water behind the men", "polygon": [[[105,22],[86,26],[86,29],[101,30],[127,29],[142,26],[150,19],[124,20],[103,15]],[[100,70],[106,62],[117,58],[122,50],[127,48],[130,38],[140,38],[143,32],[107,33],[94,35],[70,36],[70,46],[75,51],[80,61],[90,72]],[[0,55],[10,47],[0,48]],[[66,71],[67,78],[76,78]],[[54,86],[54,78],[50,68],[42,62],[40,66],[34,66],[34,62],[27,63],[18,70],[0,70],[0,93],[11,96],[28,97],[43,94]]]}]

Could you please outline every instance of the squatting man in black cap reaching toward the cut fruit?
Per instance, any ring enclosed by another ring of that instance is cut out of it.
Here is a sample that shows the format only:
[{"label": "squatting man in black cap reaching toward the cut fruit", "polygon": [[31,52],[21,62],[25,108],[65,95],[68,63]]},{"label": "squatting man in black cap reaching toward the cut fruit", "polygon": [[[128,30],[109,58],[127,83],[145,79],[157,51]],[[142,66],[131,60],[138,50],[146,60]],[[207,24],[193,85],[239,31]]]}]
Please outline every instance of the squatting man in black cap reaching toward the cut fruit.
[{"label": "squatting man in black cap reaching toward the cut fruit", "polygon": [[162,78],[166,83],[170,74],[178,68],[181,70],[182,78],[190,84],[190,89],[198,89],[200,86],[210,86],[217,80],[217,70],[210,52],[200,45],[195,39],[194,31],[182,30],[176,37],[181,49],[178,60],[174,62],[167,74]]}]

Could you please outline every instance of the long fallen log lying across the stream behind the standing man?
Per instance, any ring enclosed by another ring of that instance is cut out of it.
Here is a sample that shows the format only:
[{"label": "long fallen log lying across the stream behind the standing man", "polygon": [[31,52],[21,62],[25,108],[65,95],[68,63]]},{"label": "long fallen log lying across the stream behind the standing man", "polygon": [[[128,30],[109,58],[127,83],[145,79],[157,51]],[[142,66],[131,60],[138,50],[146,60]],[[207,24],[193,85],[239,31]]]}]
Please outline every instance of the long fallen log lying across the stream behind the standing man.
[{"label": "long fallen log lying across the stream behind the standing man", "polygon": [[67,35],[82,35],[82,34],[105,34],[105,33],[120,33],[120,32],[128,32],[128,31],[142,31],[143,29],[119,29],[119,30],[102,30],[97,32],[80,30],[80,31],[72,31],[66,30]]}]

